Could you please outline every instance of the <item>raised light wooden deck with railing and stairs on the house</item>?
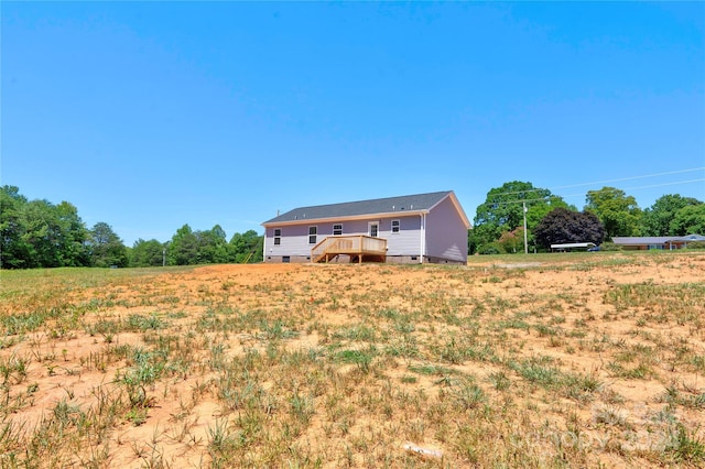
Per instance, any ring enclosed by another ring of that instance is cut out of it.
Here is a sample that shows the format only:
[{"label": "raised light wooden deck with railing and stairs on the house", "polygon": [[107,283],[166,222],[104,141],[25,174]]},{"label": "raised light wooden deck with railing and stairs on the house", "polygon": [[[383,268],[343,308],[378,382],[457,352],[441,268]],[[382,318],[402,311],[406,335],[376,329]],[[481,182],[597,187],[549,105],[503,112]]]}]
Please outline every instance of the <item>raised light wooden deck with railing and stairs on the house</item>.
[{"label": "raised light wooden deck with railing and stairs on the house", "polygon": [[325,262],[348,255],[350,262],[386,262],[387,240],[365,234],[329,236],[311,250],[311,262]]}]

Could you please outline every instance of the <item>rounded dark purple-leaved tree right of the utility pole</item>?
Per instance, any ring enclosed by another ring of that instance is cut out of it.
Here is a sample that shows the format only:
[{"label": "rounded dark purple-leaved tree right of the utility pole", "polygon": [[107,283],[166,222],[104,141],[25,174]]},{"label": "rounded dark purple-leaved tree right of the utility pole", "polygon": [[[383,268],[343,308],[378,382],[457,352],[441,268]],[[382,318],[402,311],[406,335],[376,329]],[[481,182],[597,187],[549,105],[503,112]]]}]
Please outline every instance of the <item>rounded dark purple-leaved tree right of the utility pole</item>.
[{"label": "rounded dark purple-leaved tree right of the utility pole", "polygon": [[568,242],[601,244],[605,228],[595,214],[556,208],[534,229],[536,243],[542,248]]}]

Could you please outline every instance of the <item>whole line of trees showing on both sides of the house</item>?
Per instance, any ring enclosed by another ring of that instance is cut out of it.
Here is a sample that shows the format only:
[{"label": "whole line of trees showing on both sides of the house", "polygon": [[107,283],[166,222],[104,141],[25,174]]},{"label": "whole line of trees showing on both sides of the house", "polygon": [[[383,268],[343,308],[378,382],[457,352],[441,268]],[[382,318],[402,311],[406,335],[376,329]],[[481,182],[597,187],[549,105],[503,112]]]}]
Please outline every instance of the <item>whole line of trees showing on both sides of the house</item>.
[{"label": "whole line of trees showing on both sides of the house", "polygon": [[[705,234],[705,203],[669,194],[641,209],[615,187],[588,190],[583,210],[551,190],[508,182],[487,193],[468,232],[468,252],[523,252],[553,243],[594,242],[616,236]],[[106,222],[87,228],[67,201],[28,200],[15,186],[0,187],[0,269],[61,266],[158,266],[262,261],[262,236],[254,230],[227,240],[219,225],[193,230],[184,225],[171,240],[139,239],[126,247]]]}]

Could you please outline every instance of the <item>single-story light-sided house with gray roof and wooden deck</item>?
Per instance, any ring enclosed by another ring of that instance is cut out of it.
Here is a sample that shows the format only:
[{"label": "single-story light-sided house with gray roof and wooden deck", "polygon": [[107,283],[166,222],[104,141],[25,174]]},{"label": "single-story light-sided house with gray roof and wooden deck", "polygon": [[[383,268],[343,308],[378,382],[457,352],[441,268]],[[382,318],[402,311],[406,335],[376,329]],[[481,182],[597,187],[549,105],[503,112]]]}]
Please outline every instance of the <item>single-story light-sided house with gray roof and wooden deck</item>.
[{"label": "single-story light-sided house with gray roof and wooden deck", "polygon": [[301,207],[262,223],[264,262],[467,262],[452,190]]}]

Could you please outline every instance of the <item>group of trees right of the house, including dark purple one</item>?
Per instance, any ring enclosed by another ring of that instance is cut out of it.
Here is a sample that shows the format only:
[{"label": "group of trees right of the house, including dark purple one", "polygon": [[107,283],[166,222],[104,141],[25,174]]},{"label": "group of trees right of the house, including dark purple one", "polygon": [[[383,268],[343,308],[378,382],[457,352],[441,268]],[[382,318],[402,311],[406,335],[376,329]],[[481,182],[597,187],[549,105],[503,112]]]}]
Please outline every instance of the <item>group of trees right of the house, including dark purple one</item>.
[{"label": "group of trees right of the house, including dark purple one", "polygon": [[[525,212],[524,212],[525,210]],[[588,190],[578,210],[551,190],[512,181],[487,193],[468,233],[470,254],[547,250],[553,243],[609,242],[612,237],[705,234],[705,203],[668,194],[646,209],[616,187]]]}]

